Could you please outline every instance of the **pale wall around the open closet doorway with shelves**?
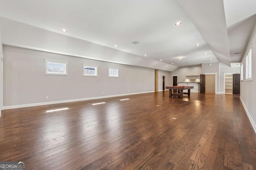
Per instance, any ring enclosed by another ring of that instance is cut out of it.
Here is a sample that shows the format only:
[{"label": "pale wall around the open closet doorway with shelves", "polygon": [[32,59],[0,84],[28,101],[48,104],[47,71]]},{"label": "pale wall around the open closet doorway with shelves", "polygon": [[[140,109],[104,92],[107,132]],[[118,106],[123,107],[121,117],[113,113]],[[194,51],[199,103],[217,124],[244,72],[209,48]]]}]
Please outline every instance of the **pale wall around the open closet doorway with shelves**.
[{"label": "pale wall around the open closet doorway with shelves", "polygon": [[240,67],[231,68],[225,64],[220,63],[220,93],[224,93],[224,74],[226,72],[234,72],[240,74]]}]

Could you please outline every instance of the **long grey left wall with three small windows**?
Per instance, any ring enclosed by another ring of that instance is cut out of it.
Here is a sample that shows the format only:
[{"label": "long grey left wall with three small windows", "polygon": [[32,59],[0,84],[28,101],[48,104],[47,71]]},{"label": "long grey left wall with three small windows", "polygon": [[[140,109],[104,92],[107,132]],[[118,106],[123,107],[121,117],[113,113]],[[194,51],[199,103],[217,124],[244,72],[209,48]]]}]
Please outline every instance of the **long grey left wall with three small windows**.
[{"label": "long grey left wall with three small windows", "polygon": [[[6,45],[3,52],[6,108],[154,91],[154,69]],[[46,75],[44,59],[68,61],[68,76]],[[98,65],[98,77],[83,76],[83,63]],[[108,77],[108,66],[119,68],[119,78]],[[168,77],[168,72],[162,73]]]}]

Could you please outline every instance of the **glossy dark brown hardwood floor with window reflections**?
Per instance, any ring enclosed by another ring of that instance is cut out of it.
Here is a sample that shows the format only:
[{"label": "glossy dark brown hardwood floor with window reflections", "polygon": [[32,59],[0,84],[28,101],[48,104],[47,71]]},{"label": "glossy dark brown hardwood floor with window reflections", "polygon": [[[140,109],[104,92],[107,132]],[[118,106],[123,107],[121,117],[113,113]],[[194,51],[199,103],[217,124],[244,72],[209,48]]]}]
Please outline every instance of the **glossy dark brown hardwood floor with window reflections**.
[{"label": "glossy dark brown hardwood floor with window reflections", "polygon": [[239,95],[165,91],[4,110],[0,161],[27,170],[252,170],[256,134]]}]

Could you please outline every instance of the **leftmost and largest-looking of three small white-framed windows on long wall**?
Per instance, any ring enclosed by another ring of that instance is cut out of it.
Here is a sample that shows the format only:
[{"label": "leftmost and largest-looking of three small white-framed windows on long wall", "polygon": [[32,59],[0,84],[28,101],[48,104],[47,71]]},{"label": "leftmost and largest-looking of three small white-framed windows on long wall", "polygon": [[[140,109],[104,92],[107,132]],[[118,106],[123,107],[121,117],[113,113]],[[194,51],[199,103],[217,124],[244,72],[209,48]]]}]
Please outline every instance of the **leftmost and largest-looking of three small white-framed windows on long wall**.
[{"label": "leftmost and largest-looking of three small white-framed windows on long wall", "polygon": [[45,74],[68,75],[68,62],[45,59]]}]

